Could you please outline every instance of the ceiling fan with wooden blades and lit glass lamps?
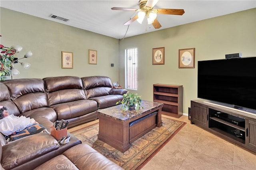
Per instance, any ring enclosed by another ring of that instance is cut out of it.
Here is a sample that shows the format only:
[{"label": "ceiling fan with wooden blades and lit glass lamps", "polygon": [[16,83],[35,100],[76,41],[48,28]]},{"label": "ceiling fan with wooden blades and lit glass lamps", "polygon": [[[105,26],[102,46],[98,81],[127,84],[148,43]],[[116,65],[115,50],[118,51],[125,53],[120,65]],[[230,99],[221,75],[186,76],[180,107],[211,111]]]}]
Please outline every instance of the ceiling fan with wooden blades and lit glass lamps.
[{"label": "ceiling fan with wooden blades and lit glass lamps", "polygon": [[156,19],[156,14],[170,14],[170,15],[183,15],[185,12],[182,9],[153,9],[158,0],[139,0],[140,9],[136,8],[120,8],[113,7],[112,10],[124,10],[124,11],[137,11],[138,14],[131,18],[123,25],[130,25],[132,22],[137,20],[140,24],[147,17],[148,24],[152,24],[154,28],[161,28],[161,24]]}]

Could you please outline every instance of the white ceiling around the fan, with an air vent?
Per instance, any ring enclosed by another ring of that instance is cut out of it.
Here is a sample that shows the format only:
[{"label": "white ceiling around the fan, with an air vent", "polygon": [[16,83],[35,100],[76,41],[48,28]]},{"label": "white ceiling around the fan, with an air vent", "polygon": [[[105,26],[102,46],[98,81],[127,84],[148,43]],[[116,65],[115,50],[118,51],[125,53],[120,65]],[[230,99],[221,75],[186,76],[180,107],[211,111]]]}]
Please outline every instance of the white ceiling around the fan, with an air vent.
[{"label": "white ceiling around the fan, with an air vent", "polygon": [[[184,9],[182,16],[158,14],[162,25],[132,22],[123,24],[137,12],[111,10],[112,7],[139,8],[138,0],[0,0],[0,6],[117,39],[162,30],[173,26],[256,8],[256,0],[159,0],[154,8]],[[70,19],[50,18],[50,14]],[[1,18],[2,20],[3,18]],[[128,28],[128,30],[127,30]],[[126,33],[127,32],[127,33]]]}]

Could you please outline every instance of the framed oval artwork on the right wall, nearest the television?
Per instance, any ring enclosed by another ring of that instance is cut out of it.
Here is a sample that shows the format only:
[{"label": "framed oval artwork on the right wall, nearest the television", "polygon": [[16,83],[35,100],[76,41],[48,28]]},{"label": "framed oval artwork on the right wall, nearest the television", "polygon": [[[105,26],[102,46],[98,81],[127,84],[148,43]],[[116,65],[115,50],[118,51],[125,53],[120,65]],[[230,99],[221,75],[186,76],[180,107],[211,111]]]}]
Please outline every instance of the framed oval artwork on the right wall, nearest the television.
[{"label": "framed oval artwork on the right wall, nearest the television", "polygon": [[179,68],[195,68],[195,48],[179,49]]}]

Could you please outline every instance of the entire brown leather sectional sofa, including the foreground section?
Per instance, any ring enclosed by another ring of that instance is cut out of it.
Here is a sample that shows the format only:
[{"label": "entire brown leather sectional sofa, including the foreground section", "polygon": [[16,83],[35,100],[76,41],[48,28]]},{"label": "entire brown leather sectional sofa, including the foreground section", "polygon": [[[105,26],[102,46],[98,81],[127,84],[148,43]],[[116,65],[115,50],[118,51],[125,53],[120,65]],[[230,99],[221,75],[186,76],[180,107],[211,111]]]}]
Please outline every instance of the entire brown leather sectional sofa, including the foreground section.
[{"label": "entire brown leather sectional sofa, including the foreground section", "polygon": [[[0,83],[0,105],[9,114],[34,118],[50,131],[55,121],[74,127],[98,119],[98,109],[116,105],[125,89],[113,89],[106,76],[13,79]],[[0,169],[122,169],[75,136],[60,145],[46,133],[7,143],[0,134]]]}]

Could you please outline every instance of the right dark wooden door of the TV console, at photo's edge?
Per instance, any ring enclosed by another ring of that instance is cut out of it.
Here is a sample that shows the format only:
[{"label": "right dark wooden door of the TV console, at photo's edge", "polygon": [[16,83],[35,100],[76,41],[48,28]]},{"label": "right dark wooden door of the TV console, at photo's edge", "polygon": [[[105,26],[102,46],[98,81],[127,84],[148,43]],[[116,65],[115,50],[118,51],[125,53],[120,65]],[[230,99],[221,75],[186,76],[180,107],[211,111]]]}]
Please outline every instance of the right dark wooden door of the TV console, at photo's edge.
[{"label": "right dark wooden door of the TV console, at photo's edge", "polygon": [[256,121],[246,120],[245,144],[256,149]]}]

